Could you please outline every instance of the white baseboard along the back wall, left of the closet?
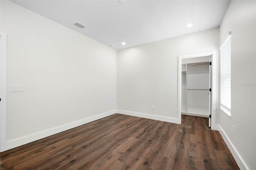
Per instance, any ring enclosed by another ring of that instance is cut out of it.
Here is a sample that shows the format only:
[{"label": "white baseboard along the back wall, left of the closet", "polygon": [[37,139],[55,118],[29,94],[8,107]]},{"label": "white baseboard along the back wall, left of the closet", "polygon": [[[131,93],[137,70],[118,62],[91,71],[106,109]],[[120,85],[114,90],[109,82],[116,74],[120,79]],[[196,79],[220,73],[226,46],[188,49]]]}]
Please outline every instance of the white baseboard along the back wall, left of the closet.
[{"label": "white baseboard along the back wall, left of the closet", "polygon": [[164,121],[164,122],[180,124],[178,122],[178,118],[149,115],[149,114],[145,114],[145,113],[137,113],[137,112],[131,112],[131,111],[122,111],[122,110],[117,110],[117,113],[124,114],[124,115],[130,115],[130,116],[136,116],[136,117],[143,117],[143,118],[147,118],[147,119],[154,119],[157,121]]}]

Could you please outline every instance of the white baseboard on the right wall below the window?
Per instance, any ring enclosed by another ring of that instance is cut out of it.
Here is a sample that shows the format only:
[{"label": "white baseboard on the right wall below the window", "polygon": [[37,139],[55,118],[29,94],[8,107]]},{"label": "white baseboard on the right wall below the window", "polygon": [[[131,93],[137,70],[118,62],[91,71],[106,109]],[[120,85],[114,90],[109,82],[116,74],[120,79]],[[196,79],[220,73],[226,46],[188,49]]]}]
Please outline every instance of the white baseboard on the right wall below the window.
[{"label": "white baseboard on the right wall below the window", "polygon": [[238,164],[239,168],[241,170],[249,170],[248,166],[246,166],[244,160],[242,159],[242,157],[240,156],[240,154],[238,153],[238,151],[236,150],[236,148],[234,147],[232,142],[229,140],[228,136],[226,135],[226,133],[224,132],[222,127],[220,125],[218,125],[218,126],[219,126],[220,134],[223,137],[226,144],[228,145],[228,148],[229,148],[230,152],[232,153],[232,155],[234,156],[234,159],[236,160],[236,163]]}]

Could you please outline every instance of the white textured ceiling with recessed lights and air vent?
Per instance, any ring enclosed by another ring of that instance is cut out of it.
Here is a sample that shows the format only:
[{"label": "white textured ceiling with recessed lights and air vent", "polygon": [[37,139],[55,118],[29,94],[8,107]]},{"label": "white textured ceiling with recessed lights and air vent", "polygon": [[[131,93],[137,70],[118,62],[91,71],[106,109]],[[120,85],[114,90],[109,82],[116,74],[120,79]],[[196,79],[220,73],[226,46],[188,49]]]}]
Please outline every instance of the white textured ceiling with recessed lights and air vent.
[{"label": "white textured ceiling with recessed lights and air vent", "polygon": [[[114,49],[220,26],[230,0],[11,0]],[[86,28],[78,28],[74,23]],[[188,28],[188,24],[193,24]],[[126,42],[126,45],[122,45]]]}]

